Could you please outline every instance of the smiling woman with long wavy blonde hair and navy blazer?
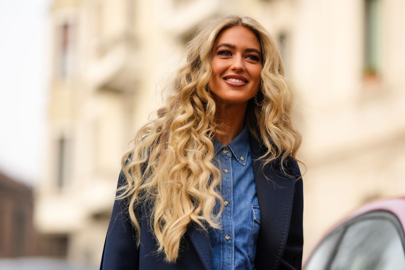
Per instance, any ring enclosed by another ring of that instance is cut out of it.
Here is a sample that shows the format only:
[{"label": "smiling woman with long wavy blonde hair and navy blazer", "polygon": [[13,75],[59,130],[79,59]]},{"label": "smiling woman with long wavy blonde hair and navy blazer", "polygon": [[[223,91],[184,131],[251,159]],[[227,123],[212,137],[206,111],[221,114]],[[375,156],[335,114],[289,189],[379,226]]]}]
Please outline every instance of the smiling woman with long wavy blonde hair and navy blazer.
[{"label": "smiling woman with long wavy blonde hair and navy blazer", "polygon": [[301,137],[274,41],[230,16],[186,56],[123,157],[101,269],[300,269]]}]

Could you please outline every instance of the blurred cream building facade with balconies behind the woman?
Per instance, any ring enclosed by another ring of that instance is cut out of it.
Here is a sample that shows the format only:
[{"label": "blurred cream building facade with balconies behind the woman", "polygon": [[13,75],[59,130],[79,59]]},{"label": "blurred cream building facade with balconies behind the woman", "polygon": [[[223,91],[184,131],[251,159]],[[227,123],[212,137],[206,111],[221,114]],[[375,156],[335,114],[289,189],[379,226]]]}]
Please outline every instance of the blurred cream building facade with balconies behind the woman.
[{"label": "blurred cream building facade with balconies behind the woman", "polygon": [[[404,195],[403,0],[54,0],[49,145],[35,224],[67,257],[101,258],[120,159],[205,22],[229,14],[279,41],[303,133],[304,255],[373,198]],[[402,192],[402,193],[401,193]]]}]

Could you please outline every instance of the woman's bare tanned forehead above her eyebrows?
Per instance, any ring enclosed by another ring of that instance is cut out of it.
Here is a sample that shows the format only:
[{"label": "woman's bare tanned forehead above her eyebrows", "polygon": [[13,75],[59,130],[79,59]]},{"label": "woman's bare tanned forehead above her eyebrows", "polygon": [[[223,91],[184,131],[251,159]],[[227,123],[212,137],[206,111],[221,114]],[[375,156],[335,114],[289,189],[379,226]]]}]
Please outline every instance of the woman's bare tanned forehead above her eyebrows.
[{"label": "woman's bare tanned forehead above her eyebrows", "polygon": [[256,35],[248,28],[237,25],[222,31],[215,39],[214,49],[221,44],[231,44],[243,48],[255,48],[261,51]]}]

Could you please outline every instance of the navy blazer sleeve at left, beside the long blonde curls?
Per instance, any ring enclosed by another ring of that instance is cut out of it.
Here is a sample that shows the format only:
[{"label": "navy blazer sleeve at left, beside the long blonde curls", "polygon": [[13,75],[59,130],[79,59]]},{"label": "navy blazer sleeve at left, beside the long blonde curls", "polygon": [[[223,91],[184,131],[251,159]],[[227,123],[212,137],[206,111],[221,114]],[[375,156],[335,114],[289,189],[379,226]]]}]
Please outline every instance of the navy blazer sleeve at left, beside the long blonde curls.
[{"label": "navy blazer sleeve at left, beside the long blonde curls", "polygon": [[[121,171],[118,185],[124,185],[126,178]],[[100,270],[138,269],[139,249],[135,241],[136,230],[128,213],[127,200],[115,200],[104,243]]]}]

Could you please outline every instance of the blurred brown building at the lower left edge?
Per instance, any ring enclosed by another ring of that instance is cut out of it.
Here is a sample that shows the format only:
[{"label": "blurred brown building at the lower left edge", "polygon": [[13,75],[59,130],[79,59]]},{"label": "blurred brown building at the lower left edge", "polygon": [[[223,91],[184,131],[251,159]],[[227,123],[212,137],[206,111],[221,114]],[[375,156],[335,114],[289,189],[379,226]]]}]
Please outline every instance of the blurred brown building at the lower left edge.
[{"label": "blurred brown building at the lower left edge", "polygon": [[38,233],[33,188],[0,172],[0,258],[67,255],[67,235]]}]

